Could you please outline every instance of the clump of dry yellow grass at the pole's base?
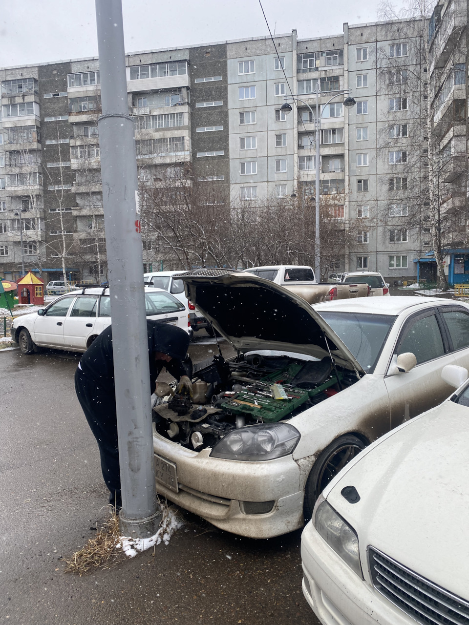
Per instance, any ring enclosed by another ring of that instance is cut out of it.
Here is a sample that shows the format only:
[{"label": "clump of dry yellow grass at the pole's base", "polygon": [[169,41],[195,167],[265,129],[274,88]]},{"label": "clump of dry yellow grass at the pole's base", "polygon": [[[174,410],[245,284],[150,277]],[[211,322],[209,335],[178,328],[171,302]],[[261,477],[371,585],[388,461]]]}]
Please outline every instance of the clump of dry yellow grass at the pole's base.
[{"label": "clump of dry yellow grass at the pole's base", "polygon": [[123,552],[116,551],[118,542],[119,517],[116,509],[111,508],[111,515],[104,521],[101,529],[98,529],[96,537],[90,538],[69,560],[64,558],[67,565],[64,572],[75,573],[81,577],[96,569],[109,569],[123,556]]}]

